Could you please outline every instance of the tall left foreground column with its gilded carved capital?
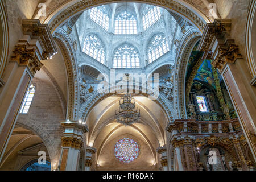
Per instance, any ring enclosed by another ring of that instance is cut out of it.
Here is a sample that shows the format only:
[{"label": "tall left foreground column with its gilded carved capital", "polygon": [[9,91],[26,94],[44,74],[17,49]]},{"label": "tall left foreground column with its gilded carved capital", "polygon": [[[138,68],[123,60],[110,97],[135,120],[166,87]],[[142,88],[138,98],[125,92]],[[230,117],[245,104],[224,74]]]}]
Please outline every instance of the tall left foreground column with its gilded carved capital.
[{"label": "tall left foreground column with its gilded carved capital", "polygon": [[47,24],[39,20],[23,20],[23,38],[19,39],[6,67],[0,87],[0,161],[5,152],[24,95],[35,73],[42,67],[41,60],[57,52]]}]

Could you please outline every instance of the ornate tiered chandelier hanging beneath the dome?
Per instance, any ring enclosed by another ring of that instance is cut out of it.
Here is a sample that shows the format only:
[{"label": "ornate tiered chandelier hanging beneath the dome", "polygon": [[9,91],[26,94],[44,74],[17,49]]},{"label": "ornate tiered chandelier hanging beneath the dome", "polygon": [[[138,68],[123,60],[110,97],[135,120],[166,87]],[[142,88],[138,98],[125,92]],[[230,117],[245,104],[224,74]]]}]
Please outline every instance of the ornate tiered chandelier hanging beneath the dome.
[{"label": "ornate tiered chandelier hanging beneath the dome", "polygon": [[[123,77],[123,80],[128,82],[129,79],[129,74],[126,73]],[[127,93],[122,96],[121,100],[119,101],[119,110],[118,112],[115,111],[115,118],[117,119],[118,123],[121,123],[125,126],[129,126],[141,118],[141,111],[138,111],[138,107],[136,107],[135,110],[134,96],[129,94],[128,89]]]}]

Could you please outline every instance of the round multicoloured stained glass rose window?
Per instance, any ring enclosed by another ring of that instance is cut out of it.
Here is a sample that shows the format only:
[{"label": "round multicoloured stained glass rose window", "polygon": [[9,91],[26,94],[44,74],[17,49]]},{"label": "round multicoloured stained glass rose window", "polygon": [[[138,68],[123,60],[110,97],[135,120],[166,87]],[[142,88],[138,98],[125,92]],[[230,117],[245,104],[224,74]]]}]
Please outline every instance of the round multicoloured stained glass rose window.
[{"label": "round multicoloured stained glass rose window", "polygon": [[133,139],[123,138],[115,143],[115,157],[124,163],[130,163],[138,158],[139,145]]}]

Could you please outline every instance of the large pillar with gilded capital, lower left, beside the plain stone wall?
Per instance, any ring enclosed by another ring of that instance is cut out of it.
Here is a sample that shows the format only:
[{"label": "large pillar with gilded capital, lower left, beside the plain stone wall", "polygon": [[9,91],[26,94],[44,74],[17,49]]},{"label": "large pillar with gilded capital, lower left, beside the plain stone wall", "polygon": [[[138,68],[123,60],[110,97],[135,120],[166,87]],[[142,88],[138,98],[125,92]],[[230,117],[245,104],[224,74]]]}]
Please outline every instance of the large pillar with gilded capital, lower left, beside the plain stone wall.
[{"label": "large pillar with gilded capital, lower left, beside the plain stone wall", "polygon": [[60,171],[77,171],[80,151],[84,147],[83,134],[88,127],[77,121],[61,121],[64,127],[61,137]]}]

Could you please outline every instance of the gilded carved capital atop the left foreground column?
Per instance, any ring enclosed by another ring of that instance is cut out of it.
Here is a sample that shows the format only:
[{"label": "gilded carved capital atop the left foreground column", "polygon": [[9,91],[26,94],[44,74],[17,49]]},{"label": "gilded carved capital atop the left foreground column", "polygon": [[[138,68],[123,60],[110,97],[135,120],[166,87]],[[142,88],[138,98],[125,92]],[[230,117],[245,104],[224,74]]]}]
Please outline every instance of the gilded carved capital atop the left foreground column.
[{"label": "gilded carved capital atop the left foreground column", "polygon": [[57,47],[47,24],[36,19],[22,20],[23,38],[16,44],[12,61],[26,65],[32,75],[42,68],[41,60],[51,59],[57,53]]}]

